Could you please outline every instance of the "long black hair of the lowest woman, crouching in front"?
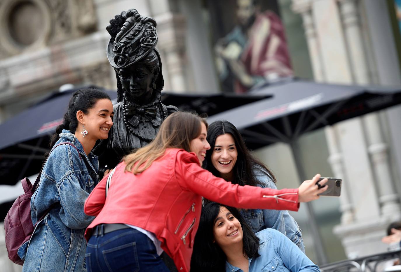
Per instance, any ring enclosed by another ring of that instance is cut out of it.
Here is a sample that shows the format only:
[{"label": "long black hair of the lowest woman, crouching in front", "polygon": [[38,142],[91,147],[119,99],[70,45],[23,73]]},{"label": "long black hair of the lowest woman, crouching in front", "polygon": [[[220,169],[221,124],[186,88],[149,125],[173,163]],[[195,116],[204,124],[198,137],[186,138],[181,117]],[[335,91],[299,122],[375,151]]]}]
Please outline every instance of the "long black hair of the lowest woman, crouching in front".
[{"label": "long black hair of the lowest woman, crouching in front", "polygon": [[220,207],[225,207],[237,218],[242,228],[243,254],[247,258],[259,257],[259,238],[246,224],[240,212],[233,207],[216,202],[210,202],[202,208],[198,232],[196,232],[194,249],[191,258],[191,272],[201,271],[225,271],[227,257],[219,245],[214,241],[214,222],[220,212]]}]

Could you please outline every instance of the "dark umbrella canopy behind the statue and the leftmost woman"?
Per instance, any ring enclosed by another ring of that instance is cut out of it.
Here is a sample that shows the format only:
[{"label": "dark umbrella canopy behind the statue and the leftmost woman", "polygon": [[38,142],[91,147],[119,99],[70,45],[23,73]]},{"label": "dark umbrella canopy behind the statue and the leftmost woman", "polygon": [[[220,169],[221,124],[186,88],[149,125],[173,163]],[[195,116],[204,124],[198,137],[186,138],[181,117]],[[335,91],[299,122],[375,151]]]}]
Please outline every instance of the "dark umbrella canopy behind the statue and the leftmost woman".
[{"label": "dark umbrella canopy behind the statue and the leftmost woman", "polygon": [[[52,94],[0,125],[2,131],[0,184],[14,185],[23,177],[33,175],[41,169],[44,155],[49,151],[50,136],[63,122],[69,99],[75,91],[77,89]],[[117,97],[115,91],[106,91],[106,93],[111,99]],[[269,96],[188,95],[168,92],[162,94],[162,103],[165,105],[175,105],[180,110],[208,115],[253,103]]]}]

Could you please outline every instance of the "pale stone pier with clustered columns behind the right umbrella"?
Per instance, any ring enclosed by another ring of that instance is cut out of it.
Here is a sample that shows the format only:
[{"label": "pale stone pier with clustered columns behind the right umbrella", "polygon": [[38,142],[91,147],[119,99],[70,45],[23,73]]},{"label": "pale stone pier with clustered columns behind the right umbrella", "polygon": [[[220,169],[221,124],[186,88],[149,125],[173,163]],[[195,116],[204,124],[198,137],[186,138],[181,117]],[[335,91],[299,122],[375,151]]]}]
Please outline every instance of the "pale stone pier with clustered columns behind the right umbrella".
[{"label": "pale stone pier with clustered columns behind the right umbrella", "polygon": [[[389,4],[391,3],[391,4]],[[303,19],[314,79],[400,86],[391,1],[293,0]],[[328,34],[330,33],[330,35]],[[344,179],[334,233],[348,257],[387,250],[389,223],[401,219],[401,107],[326,127],[328,163]]]}]

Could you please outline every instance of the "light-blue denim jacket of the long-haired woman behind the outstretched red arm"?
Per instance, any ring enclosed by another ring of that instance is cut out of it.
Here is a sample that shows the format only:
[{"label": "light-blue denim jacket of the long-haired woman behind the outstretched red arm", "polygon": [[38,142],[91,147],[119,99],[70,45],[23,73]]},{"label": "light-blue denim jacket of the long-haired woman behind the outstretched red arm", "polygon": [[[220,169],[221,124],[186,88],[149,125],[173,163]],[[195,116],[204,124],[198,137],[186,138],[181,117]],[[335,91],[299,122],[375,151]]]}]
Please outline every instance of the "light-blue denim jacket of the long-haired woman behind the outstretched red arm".
[{"label": "light-blue denim jacket of the long-haired woman behind the outstretched red arm", "polygon": [[[269,174],[259,165],[254,165],[253,174],[260,182],[259,187],[277,189]],[[265,228],[278,230],[305,253],[301,230],[287,210],[241,210],[241,215],[253,232],[259,232]]]}]

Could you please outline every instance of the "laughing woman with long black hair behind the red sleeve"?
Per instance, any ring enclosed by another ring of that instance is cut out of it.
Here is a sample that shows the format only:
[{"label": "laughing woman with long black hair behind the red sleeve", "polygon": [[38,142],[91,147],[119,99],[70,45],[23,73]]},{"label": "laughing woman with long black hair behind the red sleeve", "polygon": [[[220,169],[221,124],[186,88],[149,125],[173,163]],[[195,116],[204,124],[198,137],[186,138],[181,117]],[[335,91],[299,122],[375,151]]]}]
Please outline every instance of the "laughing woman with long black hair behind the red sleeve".
[{"label": "laughing woman with long black hair behind the red sleeve", "polygon": [[[206,153],[204,168],[217,177],[239,185],[277,189],[273,173],[253,158],[237,128],[228,121],[215,121],[207,130],[211,149]],[[207,201],[206,201],[207,202]],[[240,210],[253,232],[273,228],[286,235],[305,253],[301,230],[286,210]]]}]

